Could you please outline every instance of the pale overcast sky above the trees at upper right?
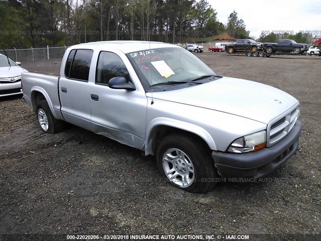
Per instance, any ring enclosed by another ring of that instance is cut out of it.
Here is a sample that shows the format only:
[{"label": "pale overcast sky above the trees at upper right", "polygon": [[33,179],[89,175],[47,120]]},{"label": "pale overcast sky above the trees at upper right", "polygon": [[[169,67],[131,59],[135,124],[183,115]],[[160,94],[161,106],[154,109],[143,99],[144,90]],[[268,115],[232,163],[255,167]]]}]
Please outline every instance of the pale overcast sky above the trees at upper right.
[{"label": "pale overcast sky above the trees at upper right", "polygon": [[218,13],[218,20],[225,25],[235,10],[250,30],[250,36],[256,38],[262,31],[272,30],[318,31],[316,35],[321,35],[321,0],[207,1]]}]

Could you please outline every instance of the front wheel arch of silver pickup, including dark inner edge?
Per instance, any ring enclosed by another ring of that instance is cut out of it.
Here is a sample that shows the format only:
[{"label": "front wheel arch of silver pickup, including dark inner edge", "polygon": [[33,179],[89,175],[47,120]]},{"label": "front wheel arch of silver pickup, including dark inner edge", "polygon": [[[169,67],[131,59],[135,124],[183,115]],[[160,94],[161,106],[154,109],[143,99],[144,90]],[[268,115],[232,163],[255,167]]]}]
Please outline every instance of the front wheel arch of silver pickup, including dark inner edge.
[{"label": "front wheel arch of silver pickup, including dark inner edge", "polygon": [[154,155],[156,146],[161,140],[175,132],[193,136],[207,145],[209,149],[217,150],[213,138],[202,127],[171,118],[159,117],[153,119],[146,128],[146,139],[144,144],[145,155]]}]

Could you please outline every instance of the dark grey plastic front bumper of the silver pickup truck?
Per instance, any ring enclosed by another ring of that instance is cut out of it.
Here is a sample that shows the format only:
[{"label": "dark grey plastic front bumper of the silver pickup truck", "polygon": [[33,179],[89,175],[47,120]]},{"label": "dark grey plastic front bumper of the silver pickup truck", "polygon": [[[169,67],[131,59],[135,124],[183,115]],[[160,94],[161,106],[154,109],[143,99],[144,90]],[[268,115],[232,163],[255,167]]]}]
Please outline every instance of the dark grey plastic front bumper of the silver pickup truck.
[{"label": "dark grey plastic front bumper of the silver pickup truck", "polygon": [[272,147],[249,153],[213,151],[215,166],[222,177],[264,177],[295,155],[302,124],[296,121],[289,134]]}]

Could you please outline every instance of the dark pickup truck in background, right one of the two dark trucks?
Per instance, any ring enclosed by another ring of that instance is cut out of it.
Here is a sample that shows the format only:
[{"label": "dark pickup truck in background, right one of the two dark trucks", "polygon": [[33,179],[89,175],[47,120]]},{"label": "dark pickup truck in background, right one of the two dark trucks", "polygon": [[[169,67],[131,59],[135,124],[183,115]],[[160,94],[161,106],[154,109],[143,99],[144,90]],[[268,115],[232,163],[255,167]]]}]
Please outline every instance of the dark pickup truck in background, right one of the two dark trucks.
[{"label": "dark pickup truck in background, right one of the two dark trucks", "polygon": [[283,52],[300,54],[307,50],[306,44],[297,44],[291,39],[280,39],[277,43],[264,43],[263,50],[267,53]]}]

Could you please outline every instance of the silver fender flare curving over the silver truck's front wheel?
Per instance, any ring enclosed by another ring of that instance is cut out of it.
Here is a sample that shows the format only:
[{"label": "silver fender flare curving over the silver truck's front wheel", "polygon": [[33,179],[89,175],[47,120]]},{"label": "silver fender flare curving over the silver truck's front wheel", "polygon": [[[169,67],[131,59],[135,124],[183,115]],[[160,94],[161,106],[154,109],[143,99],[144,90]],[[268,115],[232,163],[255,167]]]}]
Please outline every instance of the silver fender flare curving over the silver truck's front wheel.
[{"label": "silver fender flare curving over the silver truck's front wheel", "polygon": [[146,127],[146,138],[144,145],[145,155],[154,154],[152,151],[153,135],[155,134],[156,129],[160,126],[172,127],[178,130],[193,133],[202,138],[211,150],[217,150],[213,138],[205,129],[191,123],[178,121],[177,119],[157,117],[152,119],[152,121],[149,122]]}]

